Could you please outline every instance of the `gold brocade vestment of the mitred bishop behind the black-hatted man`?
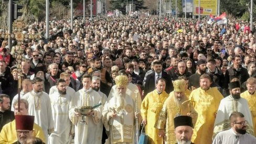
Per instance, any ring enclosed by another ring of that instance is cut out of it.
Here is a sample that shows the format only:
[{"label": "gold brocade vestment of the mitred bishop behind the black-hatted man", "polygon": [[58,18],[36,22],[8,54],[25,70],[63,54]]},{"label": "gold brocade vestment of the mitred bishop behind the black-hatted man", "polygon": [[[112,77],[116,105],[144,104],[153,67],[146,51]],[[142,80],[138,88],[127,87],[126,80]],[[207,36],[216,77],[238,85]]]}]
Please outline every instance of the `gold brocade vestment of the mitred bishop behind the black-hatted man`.
[{"label": "gold brocade vestment of the mitred bishop behind the black-hatted man", "polygon": [[[187,97],[185,97],[185,101],[186,100],[188,100]],[[176,109],[176,105],[177,104],[175,103],[174,95],[170,93],[169,97],[163,105],[163,109],[159,115],[158,122],[156,123],[156,128],[165,130],[165,143],[176,143],[173,119],[177,116],[177,111],[180,112],[179,115],[187,115],[190,113],[194,125],[197,120],[197,112],[195,111],[192,104],[185,102],[180,106],[180,110]]]}]

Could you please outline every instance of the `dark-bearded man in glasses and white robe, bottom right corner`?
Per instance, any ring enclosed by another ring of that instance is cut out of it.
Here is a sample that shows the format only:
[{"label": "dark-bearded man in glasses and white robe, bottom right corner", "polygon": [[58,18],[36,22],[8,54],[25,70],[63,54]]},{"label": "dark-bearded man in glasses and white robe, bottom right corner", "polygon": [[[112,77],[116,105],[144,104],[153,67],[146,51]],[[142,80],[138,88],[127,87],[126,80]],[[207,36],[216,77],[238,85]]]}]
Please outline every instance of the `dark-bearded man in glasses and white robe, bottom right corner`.
[{"label": "dark-bearded man in glasses and white robe, bottom right corner", "polygon": [[256,143],[256,138],[247,133],[246,118],[240,112],[233,112],[229,116],[231,128],[220,132],[214,139],[213,144],[221,143]]}]

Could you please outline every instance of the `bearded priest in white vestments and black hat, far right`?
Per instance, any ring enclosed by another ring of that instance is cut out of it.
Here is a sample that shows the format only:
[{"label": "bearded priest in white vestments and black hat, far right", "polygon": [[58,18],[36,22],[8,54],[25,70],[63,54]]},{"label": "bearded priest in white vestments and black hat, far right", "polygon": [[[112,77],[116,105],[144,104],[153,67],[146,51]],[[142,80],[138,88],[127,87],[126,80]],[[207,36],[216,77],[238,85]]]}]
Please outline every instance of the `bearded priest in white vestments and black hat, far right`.
[{"label": "bearded priest in white vestments and black hat, far right", "polygon": [[247,133],[253,135],[253,124],[251,111],[246,99],[240,97],[240,82],[236,79],[232,79],[228,84],[230,95],[220,101],[219,109],[217,111],[215,123],[214,123],[214,136],[220,131],[228,130],[229,116],[232,112],[241,112],[244,118],[247,120]]}]

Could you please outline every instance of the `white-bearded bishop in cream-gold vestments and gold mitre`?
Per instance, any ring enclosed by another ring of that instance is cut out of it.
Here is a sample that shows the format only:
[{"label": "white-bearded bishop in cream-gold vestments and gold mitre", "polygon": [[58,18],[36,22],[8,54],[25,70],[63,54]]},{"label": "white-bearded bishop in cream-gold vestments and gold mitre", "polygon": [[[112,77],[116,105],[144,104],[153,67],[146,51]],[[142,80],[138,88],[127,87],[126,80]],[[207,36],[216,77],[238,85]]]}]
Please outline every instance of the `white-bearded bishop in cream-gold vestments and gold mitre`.
[{"label": "white-bearded bishop in cream-gold vestments and gold mitre", "polygon": [[[113,143],[135,143],[135,117],[138,124],[141,122],[140,110],[136,108],[136,103],[126,94],[128,78],[125,75],[115,77],[116,88],[109,101],[106,101],[102,112],[103,124],[109,131],[109,138],[105,144]],[[137,109],[137,112],[136,112]]]}]

